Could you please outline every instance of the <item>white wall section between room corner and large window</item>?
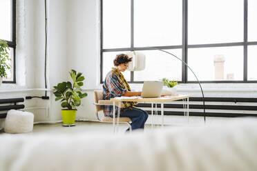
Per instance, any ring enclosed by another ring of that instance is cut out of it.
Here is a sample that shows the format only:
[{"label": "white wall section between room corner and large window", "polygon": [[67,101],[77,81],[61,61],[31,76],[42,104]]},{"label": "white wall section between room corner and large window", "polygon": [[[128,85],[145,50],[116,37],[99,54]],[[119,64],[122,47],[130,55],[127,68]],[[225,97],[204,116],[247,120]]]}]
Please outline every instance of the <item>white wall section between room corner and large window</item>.
[{"label": "white wall section between room corner and large window", "polygon": [[[67,1],[67,71],[82,72],[88,97],[82,99],[77,118],[95,119],[93,90],[99,87],[99,3]],[[89,90],[88,90],[89,89]]]}]

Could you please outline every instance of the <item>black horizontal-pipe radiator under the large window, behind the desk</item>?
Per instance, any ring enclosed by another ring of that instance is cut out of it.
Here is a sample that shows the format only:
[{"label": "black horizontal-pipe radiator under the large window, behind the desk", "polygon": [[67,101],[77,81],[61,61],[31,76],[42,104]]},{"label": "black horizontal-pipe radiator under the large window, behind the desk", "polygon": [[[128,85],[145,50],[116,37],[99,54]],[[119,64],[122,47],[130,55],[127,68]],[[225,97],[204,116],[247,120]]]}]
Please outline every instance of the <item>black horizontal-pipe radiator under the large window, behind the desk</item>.
[{"label": "black horizontal-pipe radiator under the large window, behind the desk", "polygon": [[[257,98],[204,97],[204,101],[207,117],[257,117]],[[164,115],[184,115],[183,104],[186,103],[182,100],[165,103]],[[136,106],[151,113],[151,103]],[[189,98],[189,115],[204,116],[202,97]]]}]

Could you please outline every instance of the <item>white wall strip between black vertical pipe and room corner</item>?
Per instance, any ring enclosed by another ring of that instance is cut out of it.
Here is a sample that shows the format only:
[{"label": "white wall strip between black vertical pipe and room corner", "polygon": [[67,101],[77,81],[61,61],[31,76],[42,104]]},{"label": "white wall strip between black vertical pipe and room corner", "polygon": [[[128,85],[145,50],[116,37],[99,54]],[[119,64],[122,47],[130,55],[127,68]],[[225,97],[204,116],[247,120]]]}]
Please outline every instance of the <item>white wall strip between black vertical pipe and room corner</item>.
[{"label": "white wall strip between black vertical pipe and room corner", "polygon": [[[66,0],[48,1],[48,88],[53,88],[57,83],[66,81]],[[53,93],[50,94],[50,119],[61,120],[61,106],[55,101]]]}]

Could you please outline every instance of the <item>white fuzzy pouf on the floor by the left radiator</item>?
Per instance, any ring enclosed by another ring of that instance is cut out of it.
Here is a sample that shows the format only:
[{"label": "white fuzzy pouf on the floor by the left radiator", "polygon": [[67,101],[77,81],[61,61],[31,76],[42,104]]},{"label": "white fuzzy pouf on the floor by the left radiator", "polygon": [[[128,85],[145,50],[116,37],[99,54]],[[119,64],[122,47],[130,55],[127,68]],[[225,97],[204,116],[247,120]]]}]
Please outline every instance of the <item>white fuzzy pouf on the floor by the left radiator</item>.
[{"label": "white fuzzy pouf on the floor by the left radiator", "polygon": [[9,110],[6,115],[4,131],[7,133],[27,133],[32,132],[34,114],[19,110]]}]

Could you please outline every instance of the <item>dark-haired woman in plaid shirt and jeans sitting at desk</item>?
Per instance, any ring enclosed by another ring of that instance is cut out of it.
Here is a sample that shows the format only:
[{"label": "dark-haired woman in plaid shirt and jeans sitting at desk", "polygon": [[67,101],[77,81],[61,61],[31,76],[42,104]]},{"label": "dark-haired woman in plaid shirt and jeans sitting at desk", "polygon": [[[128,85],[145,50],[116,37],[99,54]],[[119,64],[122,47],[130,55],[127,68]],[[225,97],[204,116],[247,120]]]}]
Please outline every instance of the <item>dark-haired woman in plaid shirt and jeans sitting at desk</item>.
[{"label": "dark-haired woman in plaid shirt and jeans sitting at desk", "polygon": [[[117,54],[113,60],[115,68],[113,68],[104,80],[103,84],[103,98],[109,100],[115,97],[133,97],[140,96],[141,92],[131,92],[126,79],[122,72],[128,68],[128,63],[132,61],[132,57],[129,58],[127,54]],[[120,111],[120,117],[128,117],[131,119],[132,130],[142,128],[144,129],[144,123],[148,118],[148,113],[144,110],[134,107],[134,102],[123,102],[124,107]],[[117,107],[116,107],[117,108]],[[117,109],[115,109],[117,111]],[[113,117],[113,105],[104,105],[104,115]]]}]

